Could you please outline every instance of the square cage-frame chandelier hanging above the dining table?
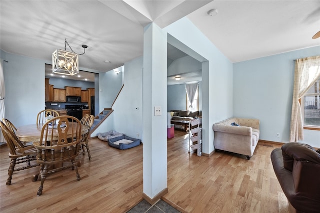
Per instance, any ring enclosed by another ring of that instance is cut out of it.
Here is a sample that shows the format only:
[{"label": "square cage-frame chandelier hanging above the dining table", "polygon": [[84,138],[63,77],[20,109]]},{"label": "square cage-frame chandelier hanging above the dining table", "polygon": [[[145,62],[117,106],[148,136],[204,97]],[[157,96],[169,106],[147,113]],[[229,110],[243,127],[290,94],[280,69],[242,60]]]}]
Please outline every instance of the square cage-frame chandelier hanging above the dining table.
[{"label": "square cage-frame chandelier hanging above the dining table", "polygon": [[[69,46],[71,52],[66,51],[66,45]],[[88,46],[82,44],[83,53],[75,53],[66,38],[64,40],[64,50],[56,49],[52,53],[52,73],[64,74],[64,75],[75,75],[79,73],[79,61],[78,55],[83,55],[85,53],[85,48]]]}]

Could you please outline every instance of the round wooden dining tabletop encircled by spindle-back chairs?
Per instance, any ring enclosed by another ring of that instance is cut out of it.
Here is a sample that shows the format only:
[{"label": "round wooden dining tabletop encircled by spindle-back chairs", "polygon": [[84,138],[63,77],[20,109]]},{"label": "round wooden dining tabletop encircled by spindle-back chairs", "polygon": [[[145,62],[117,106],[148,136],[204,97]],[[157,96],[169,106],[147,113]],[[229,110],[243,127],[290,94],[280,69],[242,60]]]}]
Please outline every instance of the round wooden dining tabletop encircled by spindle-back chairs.
[{"label": "round wooden dining tabletop encircled by spindle-back chairs", "polygon": [[[75,124],[74,124],[75,125]],[[29,124],[29,125],[24,125],[20,126],[16,129],[15,135],[18,137],[20,141],[23,142],[37,142],[40,141],[41,137],[41,129],[42,129],[43,124]],[[56,133],[53,133],[53,136],[56,135],[58,136],[57,129],[53,129]],[[76,128],[73,128],[75,131]],[[89,130],[89,127],[86,125],[81,125],[81,135],[86,133]],[[72,128],[68,128],[67,136],[72,136]]]}]

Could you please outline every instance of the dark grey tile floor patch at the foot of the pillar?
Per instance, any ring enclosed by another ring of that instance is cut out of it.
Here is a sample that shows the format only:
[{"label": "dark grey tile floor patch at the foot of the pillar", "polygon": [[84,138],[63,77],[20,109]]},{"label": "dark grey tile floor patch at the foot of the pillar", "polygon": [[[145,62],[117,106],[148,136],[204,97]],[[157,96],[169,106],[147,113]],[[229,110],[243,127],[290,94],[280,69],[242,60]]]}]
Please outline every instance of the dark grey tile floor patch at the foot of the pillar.
[{"label": "dark grey tile floor patch at the foot of the pillar", "polygon": [[163,200],[159,200],[151,206],[143,199],[127,213],[179,213],[179,211],[165,203]]}]

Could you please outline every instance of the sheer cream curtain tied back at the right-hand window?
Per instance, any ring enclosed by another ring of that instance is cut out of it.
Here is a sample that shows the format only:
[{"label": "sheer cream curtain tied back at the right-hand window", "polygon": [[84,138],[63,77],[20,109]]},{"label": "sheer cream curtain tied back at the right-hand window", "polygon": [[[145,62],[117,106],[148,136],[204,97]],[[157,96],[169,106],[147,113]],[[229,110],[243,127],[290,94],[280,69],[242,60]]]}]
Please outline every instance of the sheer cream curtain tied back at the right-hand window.
[{"label": "sheer cream curtain tied back at the right-hand window", "polygon": [[[299,99],[320,76],[320,55],[295,60],[290,142],[303,140],[303,122]],[[304,104],[302,103],[302,106]]]}]

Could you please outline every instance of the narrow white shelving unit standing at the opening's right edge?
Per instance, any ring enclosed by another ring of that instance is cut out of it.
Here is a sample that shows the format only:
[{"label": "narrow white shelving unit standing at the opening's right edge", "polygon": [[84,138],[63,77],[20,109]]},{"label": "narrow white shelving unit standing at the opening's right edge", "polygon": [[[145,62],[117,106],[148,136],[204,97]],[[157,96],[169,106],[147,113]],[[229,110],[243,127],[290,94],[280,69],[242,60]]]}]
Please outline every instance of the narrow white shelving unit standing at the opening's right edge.
[{"label": "narrow white shelving unit standing at the opening's right edge", "polygon": [[196,155],[202,154],[202,125],[201,119],[192,119],[189,121],[189,153],[190,150],[196,150]]}]

